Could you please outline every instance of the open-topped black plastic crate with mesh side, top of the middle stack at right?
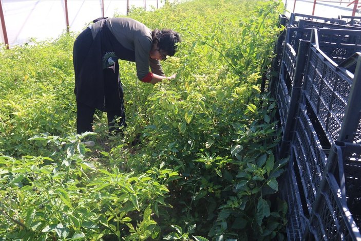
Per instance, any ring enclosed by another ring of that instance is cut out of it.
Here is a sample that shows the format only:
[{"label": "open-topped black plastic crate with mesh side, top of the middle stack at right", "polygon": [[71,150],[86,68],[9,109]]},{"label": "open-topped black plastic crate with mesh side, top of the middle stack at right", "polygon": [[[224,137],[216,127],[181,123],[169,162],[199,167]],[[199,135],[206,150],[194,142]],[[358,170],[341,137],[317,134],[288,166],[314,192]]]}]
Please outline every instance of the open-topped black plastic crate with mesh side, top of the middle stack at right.
[{"label": "open-topped black plastic crate with mesh side, top of the middle stack at right", "polygon": [[[330,143],[334,143],[339,136],[345,116],[353,74],[345,68],[340,68],[331,58],[337,59],[338,62],[344,61],[351,53],[361,50],[361,45],[356,43],[361,38],[361,31],[331,29],[313,31],[303,90]],[[318,34],[322,37],[318,38]],[[347,41],[349,43],[344,43]],[[350,51],[344,51],[345,48]],[[324,49],[331,53],[330,58],[323,51]],[[333,50],[330,51],[331,49]],[[357,131],[356,136],[360,136]]]}]

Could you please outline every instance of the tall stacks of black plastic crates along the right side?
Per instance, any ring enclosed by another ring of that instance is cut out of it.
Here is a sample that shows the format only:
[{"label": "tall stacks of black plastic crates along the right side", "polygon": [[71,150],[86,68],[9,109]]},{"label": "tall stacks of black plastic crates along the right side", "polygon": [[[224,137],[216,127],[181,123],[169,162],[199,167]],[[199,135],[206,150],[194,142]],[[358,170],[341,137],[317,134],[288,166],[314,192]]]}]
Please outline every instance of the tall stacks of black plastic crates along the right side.
[{"label": "tall stacks of black plastic crates along the right side", "polygon": [[270,88],[289,157],[280,187],[289,240],[361,240],[361,28],[291,13]]}]

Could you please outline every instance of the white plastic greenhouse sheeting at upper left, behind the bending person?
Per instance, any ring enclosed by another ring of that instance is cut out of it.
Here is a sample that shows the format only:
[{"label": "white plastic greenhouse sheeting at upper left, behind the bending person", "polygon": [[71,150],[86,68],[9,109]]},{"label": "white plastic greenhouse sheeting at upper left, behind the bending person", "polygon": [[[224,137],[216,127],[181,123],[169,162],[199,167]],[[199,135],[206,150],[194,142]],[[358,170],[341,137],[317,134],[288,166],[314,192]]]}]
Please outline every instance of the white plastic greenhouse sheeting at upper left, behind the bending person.
[{"label": "white plastic greenhouse sheeting at upper left, behind the bending person", "polygon": [[[64,0],[2,0],[10,47],[29,42],[31,38],[58,38],[66,31]],[[103,0],[104,16],[126,14],[126,0]],[[172,1],[171,1],[172,2]],[[157,0],[146,0],[146,10],[157,7]],[[164,1],[158,1],[159,7]],[[68,0],[70,31],[80,32],[92,20],[102,16],[102,0]],[[144,8],[144,1],[129,0],[130,7]],[[0,28],[1,31],[1,28]],[[0,34],[1,43],[4,35]]]}]

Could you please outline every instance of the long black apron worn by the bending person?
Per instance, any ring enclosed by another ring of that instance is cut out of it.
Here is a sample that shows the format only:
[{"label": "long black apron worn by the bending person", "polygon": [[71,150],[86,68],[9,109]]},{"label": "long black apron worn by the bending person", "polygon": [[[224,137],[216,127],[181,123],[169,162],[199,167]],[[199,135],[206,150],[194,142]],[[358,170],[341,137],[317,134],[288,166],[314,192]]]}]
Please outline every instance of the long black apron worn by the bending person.
[{"label": "long black apron worn by the bending person", "polygon": [[123,110],[118,59],[135,62],[135,51],[117,41],[106,21],[102,25],[94,39],[91,29],[87,28],[74,42],[74,94],[78,102],[103,112]]}]

